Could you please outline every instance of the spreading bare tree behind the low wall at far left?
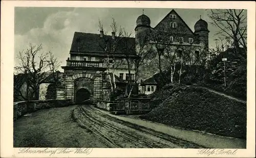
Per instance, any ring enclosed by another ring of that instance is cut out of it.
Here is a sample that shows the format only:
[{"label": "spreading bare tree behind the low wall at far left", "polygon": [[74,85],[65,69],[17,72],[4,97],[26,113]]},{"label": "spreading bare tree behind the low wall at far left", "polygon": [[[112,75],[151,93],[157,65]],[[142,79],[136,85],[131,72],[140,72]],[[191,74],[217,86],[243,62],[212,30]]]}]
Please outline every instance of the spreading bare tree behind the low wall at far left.
[{"label": "spreading bare tree behind the low wall at far left", "polygon": [[40,83],[45,82],[50,74],[54,74],[59,66],[52,53],[40,53],[41,50],[41,44],[38,46],[30,44],[26,51],[19,52],[17,56],[19,65],[14,67],[14,70],[17,74],[23,74],[26,94],[24,95],[22,89],[15,85],[14,89],[24,100],[36,99]]}]

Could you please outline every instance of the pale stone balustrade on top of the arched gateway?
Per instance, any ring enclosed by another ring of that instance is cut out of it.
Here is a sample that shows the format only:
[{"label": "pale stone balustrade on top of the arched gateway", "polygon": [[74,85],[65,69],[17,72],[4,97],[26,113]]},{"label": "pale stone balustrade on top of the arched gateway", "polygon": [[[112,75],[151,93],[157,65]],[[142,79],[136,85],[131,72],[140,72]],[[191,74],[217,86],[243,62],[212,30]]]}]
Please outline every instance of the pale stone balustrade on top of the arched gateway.
[{"label": "pale stone balustrade on top of the arched gateway", "polygon": [[103,67],[103,61],[67,60],[67,66]]}]

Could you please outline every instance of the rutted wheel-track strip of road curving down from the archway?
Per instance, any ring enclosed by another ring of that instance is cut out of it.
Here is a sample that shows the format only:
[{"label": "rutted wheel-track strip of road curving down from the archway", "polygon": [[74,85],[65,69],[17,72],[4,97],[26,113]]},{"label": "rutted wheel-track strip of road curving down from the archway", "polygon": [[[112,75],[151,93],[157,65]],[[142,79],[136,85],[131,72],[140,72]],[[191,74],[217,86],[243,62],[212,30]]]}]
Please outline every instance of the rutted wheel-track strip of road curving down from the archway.
[{"label": "rutted wheel-track strip of road curving down from the archway", "polygon": [[204,148],[195,143],[106,115],[92,105],[77,106],[73,111],[73,117],[80,127],[91,131],[109,148]]}]

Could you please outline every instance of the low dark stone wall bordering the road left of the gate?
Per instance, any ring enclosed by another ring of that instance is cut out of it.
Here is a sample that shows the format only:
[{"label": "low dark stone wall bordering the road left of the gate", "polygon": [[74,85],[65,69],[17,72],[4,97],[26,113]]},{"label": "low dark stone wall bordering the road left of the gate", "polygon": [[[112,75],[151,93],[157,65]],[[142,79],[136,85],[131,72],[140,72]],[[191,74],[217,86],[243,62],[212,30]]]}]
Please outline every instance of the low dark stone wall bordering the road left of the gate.
[{"label": "low dark stone wall bordering the road left of the gate", "polygon": [[13,120],[17,120],[20,116],[28,112],[35,112],[40,109],[51,107],[65,107],[74,105],[73,101],[68,100],[33,100],[33,101],[20,101],[13,103]]}]

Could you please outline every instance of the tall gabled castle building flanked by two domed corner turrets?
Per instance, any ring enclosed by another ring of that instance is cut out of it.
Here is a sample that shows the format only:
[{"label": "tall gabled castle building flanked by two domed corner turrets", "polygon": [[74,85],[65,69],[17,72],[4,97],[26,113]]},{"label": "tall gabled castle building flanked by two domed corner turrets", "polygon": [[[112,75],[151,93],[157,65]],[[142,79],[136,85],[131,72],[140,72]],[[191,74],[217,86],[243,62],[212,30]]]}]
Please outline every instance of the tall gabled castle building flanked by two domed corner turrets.
[{"label": "tall gabled castle building flanked by two domed corner turrets", "polygon": [[[137,52],[141,49],[141,44],[155,52],[155,55],[149,57],[152,64],[144,64],[140,73],[158,66],[153,64],[158,62],[158,51],[162,51],[163,69],[174,63],[205,65],[208,60],[208,24],[200,17],[194,29],[195,31],[192,31],[175,10],[170,11],[154,28],[151,27],[151,19],[148,16],[140,15],[135,28]],[[146,80],[155,72],[156,70],[146,73],[141,79]]]}]

